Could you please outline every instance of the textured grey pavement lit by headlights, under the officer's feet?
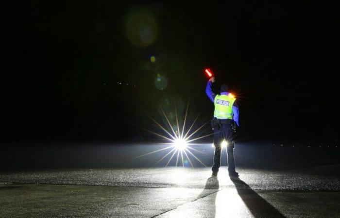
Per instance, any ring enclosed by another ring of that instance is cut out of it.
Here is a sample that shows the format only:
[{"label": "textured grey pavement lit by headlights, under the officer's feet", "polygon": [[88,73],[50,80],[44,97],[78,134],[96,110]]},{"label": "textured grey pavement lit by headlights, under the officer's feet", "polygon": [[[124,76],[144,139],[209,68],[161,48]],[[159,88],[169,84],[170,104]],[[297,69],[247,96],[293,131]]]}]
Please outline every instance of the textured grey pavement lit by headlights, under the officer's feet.
[{"label": "textured grey pavement lit by headlights, under the officer's feet", "polygon": [[340,217],[340,165],[0,173],[0,217]]}]

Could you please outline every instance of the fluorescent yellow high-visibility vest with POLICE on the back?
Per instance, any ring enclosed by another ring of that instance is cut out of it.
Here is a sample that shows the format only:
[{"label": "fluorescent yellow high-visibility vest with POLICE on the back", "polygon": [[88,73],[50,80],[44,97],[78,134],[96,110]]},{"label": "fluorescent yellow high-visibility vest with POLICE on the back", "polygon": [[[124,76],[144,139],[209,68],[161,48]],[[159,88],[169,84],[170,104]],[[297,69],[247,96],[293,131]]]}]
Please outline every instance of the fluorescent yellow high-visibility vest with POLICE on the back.
[{"label": "fluorescent yellow high-visibility vest with POLICE on the back", "polygon": [[233,104],[235,100],[234,97],[228,95],[216,95],[214,100],[214,117],[217,119],[233,119]]}]

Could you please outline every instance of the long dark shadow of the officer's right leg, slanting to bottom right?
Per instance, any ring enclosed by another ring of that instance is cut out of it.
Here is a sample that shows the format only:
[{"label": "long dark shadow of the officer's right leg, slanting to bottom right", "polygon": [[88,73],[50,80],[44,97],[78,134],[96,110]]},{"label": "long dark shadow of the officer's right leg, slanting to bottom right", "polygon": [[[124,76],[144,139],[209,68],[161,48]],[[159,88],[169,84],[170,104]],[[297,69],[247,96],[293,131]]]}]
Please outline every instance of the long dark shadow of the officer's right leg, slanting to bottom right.
[{"label": "long dark shadow of the officer's right leg, slanting to bottom right", "polygon": [[284,218],[275,207],[259,196],[251,187],[240,179],[230,180],[234,183],[238,195],[246,204],[253,216],[256,217],[275,217]]}]

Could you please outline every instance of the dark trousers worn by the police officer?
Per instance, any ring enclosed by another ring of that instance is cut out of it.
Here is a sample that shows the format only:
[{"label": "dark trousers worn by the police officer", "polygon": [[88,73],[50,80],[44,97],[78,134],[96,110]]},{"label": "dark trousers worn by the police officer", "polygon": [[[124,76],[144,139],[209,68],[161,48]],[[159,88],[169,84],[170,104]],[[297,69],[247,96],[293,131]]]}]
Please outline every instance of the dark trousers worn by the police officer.
[{"label": "dark trousers worn by the police officer", "polygon": [[226,140],[227,145],[227,158],[228,158],[228,171],[229,173],[235,172],[235,158],[233,144],[233,129],[229,122],[227,124],[219,124],[214,127],[214,165],[212,167],[213,172],[218,172],[221,165],[221,143]]}]

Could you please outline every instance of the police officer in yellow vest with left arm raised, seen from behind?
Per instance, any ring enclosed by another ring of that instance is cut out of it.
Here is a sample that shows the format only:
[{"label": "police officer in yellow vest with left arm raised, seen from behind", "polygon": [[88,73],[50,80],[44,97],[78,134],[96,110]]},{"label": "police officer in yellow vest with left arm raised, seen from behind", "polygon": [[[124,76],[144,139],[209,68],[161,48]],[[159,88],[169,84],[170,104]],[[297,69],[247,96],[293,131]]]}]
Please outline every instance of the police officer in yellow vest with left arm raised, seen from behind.
[{"label": "police officer in yellow vest with left arm raised, seen from behind", "polygon": [[235,126],[236,123],[239,126],[238,106],[235,102],[235,97],[231,93],[228,93],[227,85],[223,84],[221,86],[220,94],[213,93],[211,90],[211,85],[213,82],[215,82],[214,77],[209,79],[205,88],[205,93],[208,95],[209,99],[214,102],[215,105],[214,117],[212,120],[215,146],[212,176],[217,176],[217,173],[219,171],[221,165],[222,142],[223,140],[225,140],[227,143],[229,175],[232,177],[238,177],[238,172],[235,171],[235,144],[233,141],[233,125]]}]

